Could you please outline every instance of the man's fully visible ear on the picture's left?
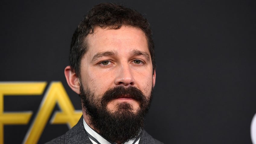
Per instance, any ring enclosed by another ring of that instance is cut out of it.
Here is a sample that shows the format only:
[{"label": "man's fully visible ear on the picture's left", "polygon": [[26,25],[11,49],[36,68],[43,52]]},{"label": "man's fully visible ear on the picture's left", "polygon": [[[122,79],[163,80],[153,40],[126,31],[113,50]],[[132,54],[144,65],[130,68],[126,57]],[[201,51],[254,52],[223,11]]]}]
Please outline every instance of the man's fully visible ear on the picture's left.
[{"label": "man's fully visible ear on the picture's left", "polygon": [[77,94],[80,94],[80,82],[75,72],[71,70],[70,66],[67,66],[64,73],[69,87]]}]

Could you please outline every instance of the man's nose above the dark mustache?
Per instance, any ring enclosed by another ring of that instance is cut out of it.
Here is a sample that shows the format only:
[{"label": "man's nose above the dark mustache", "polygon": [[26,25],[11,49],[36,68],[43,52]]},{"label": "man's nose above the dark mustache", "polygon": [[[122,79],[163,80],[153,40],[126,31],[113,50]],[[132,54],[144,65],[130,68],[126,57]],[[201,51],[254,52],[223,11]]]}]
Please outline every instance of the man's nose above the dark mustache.
[{"label": "man's nose above the dark mustache", "polygon": [[133,72],[129,65],[120,66],[117,70],[115,84],[126,87],[134,85]]}]

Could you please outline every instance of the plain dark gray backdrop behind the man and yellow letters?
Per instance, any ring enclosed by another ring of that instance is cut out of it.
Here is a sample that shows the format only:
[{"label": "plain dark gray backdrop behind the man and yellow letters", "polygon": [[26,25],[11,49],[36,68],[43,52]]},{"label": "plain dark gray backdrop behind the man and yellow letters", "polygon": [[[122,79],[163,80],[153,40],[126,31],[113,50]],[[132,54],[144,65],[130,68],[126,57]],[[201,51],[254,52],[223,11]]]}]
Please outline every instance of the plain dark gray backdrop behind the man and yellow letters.
[{"label": "plain dark gray backdrop behind the man and yellow letters", "polygon": [[[66,84],[72,33],[83,15],[106,1],[4,1],[0,81]],[[256,113],[256,1],[107,1],[145,14],[153,30],[157,77],[146,130],[168,143],[251,143]],[[43,98],[6,96],[6,111],[33,110],[28,125],[4,127],[21,143]],[[58,107],[55,107],[58,110]],[[39,143],[68,130],[47,124]]]}]

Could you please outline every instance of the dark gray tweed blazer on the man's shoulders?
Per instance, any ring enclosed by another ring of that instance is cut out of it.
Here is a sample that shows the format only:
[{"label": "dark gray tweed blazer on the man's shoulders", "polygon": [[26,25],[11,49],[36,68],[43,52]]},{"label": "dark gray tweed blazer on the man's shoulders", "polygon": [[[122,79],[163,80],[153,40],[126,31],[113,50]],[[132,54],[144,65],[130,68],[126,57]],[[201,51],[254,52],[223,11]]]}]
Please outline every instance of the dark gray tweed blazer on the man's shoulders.
[{"label": "dark gray tweed blazer on the man's shoulders", "polygon": [[[88,138],[83,125],[83,117],[80,118],[78,123],[64,135],[59,136],[46,144],[92,144]],[[145,130],[142,131],[139,144],[163,144],[162,142],[154,139]]]}]

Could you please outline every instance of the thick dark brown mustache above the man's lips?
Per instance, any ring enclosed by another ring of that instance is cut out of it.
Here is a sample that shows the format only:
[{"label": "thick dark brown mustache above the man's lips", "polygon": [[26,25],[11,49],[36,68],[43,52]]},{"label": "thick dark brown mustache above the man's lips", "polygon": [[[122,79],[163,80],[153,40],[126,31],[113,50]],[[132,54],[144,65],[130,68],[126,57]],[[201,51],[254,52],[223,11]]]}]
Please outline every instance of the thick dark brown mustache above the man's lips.
[{"label": "thick dark brown mustache above the man's lips", "polygon": [[146,96],[137,88],[130,86],[125,88],[123,86],[116,86],[107,90],[102,96],[102,105],[107,105],[108,102],[117,98],[133,98],[142,105],[146,101]]}]

